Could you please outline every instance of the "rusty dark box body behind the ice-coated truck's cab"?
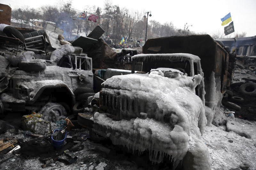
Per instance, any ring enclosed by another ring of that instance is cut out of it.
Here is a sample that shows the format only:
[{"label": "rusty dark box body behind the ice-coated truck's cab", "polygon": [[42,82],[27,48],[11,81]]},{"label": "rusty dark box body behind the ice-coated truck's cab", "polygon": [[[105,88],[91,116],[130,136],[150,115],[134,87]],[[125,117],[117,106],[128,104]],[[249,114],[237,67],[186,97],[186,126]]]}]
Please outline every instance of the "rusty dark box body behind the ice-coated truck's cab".
[{"label": "rusty dark box body behind the ice-coated truck's cab", "polygon": [[230,86],[233,70],[230,68],[231,55],[224,46],[214,41],[210,35],[172,36],[149,39],[143,46],[143,53],[189,53],[199,56],[204,72],[205,105],[212,110],[206,107],[207,113],[214,114],[214,124],[218,125],[222,121],[222,115],[218,114],[220,102],[222,94]]}]

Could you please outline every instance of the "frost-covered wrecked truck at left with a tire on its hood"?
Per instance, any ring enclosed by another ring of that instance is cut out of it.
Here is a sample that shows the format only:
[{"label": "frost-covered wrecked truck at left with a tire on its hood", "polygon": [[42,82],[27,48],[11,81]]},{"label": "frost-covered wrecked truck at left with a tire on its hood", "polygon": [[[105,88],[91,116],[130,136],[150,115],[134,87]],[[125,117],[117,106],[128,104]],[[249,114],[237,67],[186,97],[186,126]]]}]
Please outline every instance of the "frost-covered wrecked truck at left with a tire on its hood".
[{"label": "frost-covered wrecked truck at left with a tire on its hood", "polygon": [[[69,45],[61,48],[66,46]],[[8,54],[5,55],[8,58]],[[6,111],[41,113],[44,120],[55,122],[72,114],[75,94],[84,94],[85,90],[88,94],[93,92],[92,58],[86,54],[68,54],[58,62],[21,61],[1,94],[1,101]]]}]

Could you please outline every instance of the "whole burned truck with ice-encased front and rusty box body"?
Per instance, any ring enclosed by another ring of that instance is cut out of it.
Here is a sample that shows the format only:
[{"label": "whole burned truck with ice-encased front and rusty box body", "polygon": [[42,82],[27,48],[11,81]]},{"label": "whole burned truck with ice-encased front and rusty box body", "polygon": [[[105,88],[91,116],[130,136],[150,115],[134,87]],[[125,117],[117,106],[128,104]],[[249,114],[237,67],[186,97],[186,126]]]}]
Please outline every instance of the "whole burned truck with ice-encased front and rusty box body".
[{"label": "whole burned truck with ice-encased front and rusty box body", "polygon": [[132,74],[102,84],[92,130],[149,151],[153,162],[167,157],[183,169],[211,169],[201,135],[229,83],[228,52],[209,35],[193,35],[148,40],[143,53],[132,56]]}]

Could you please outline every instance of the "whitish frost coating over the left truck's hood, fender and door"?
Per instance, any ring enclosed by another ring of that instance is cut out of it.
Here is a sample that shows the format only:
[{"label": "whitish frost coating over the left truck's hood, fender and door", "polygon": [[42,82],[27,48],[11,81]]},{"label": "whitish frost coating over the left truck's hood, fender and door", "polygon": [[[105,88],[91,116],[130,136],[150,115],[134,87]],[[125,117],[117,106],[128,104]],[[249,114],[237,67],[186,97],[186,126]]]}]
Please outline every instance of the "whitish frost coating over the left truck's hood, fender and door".
[{"label": "whitish frost coating over the left truck's hood, fender and door", "polygon": [[[77,78],[79,75],[84,76],[82,81]],[[34,100],[36,93],[44,86],[67,86],[70,92],[78,87],[92,87],[93,82],[90,77],[92,77],[92,72],[89,70],[73,70],[73,68],[47,66],[42,72],[16,70],[12,76],[12,81],[13,86],[23,86],[27,89],[33,89],[29,92],[29,100]]]}]

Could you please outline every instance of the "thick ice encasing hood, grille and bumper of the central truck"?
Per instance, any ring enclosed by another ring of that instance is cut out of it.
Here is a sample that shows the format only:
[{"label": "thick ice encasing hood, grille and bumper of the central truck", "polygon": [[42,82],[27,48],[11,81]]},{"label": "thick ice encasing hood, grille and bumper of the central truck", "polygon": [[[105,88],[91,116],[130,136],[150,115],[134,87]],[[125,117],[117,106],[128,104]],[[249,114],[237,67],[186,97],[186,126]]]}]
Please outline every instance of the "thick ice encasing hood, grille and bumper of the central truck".
[{"label": "thick ice encasing hood, grille and bumper of the central truck", "polygon": [[106,113],[94,114],[93,130],[132,151],[148,150],[153,162],[167,157],[177,166],[189,151],[193,166],[210,169],[207,147],[201,141],[207,120],[203,102],[195,94],[202,76],[175,79],[161,72],[108,78],[100,93]]}]

